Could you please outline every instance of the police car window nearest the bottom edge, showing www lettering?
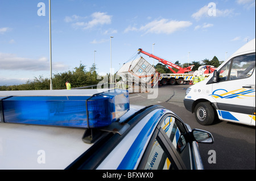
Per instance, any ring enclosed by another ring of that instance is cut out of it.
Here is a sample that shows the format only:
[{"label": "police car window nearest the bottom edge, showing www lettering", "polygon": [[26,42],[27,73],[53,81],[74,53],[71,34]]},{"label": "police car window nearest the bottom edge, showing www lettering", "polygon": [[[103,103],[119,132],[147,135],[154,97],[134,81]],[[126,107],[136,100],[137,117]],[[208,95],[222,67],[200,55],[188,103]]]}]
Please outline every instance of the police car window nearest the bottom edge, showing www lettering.
[{"label": "police car window nearest the bottom edge, showing www lettering", "polygon": [[155,140],[154,145],[147,158],[147,163],[144,166],[145,170],[169,170],[172,169],[172,164],[167,154],[164,152],[159,142]]}]

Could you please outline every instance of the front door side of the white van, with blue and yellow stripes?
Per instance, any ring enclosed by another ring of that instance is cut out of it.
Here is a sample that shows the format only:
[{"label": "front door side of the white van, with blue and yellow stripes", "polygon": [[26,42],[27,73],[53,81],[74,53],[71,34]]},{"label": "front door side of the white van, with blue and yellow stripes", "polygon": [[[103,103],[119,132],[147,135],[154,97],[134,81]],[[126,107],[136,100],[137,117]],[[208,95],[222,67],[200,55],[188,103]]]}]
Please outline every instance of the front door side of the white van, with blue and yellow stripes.
[{"label": "front door side of the white van, with blue and yellow stripes", "polygon": [[255,53],[232,58],[218,74],[219,81],[213,83],[212,97],[219,108],[220,119],[255,125]]}]

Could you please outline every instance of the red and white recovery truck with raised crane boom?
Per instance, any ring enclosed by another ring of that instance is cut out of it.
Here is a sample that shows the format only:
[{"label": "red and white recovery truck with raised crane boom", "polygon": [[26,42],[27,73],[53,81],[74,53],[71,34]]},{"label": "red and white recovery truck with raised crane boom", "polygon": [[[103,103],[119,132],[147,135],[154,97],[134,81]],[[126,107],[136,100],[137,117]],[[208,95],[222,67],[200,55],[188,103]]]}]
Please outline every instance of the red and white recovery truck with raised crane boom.
[{"label": "red and white recovery truck with raised crane boom", "polygon": [[[159,62],[162,62],[162,64],[167,65],[168,69],[172,71],[173,74],[160,74],[158,81],[160,82],[161,85],[167,85],[168,83],[170,83],[170,85],[175,85],[176,83],[178,85],[183,85],[184,83],[189,83],[193,81],[194,74],[189,72],[192,71],[194,65],[190,65],[187,68],[181,68],[180,66],[172,64],[171,62],[164,60],[163,58],[145,52],[141,48],[139,48],[138,51],[138,54],[143,53],[149,57],[155,58]],[[171,67],[178,69],[178,71],[176,72]],[[207,78],[209,77],[210,73],[213,73],[215,69],[216,68],[214,68],[214,66],[212,65],[203,65],[199,67],[197,72],[202,72],[205,78]]]}]

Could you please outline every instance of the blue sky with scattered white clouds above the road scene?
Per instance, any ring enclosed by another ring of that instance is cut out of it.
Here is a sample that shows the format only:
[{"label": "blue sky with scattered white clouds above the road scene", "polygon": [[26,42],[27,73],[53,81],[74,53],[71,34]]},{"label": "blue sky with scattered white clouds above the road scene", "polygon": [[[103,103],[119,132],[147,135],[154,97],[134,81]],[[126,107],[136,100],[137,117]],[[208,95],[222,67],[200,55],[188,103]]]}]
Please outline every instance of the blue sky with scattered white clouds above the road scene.
[{"label": "blue sky with scattered white clouds above the road scene", "polygon": [[[224,61],[254,38],[255,0],[51,0],[52,76],[94,61],[99,74],[118,71],[139,48]],[[0,86],[49,78],[49,49],[49,1],[0,0]]]}]

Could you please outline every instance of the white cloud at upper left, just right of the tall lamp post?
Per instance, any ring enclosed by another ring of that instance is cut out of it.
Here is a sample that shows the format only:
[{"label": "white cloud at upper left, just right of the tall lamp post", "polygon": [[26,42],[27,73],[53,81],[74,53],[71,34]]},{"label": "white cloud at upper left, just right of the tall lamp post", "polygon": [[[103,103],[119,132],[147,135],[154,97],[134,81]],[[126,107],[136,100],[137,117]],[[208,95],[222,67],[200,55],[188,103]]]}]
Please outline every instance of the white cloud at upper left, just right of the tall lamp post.
[{"label": "white cloud at upper left, just right of the tall lamp post", "polygon": [[78,15],[66,16],[64,21],[67,23],[72,22],[74,28],[82,28],[84,30],[112,23],[112,15],[108,15],[106,12],[94,12],[90,17],[91,20],[85,22],[84,20],[88,19],[88,17]]}]

